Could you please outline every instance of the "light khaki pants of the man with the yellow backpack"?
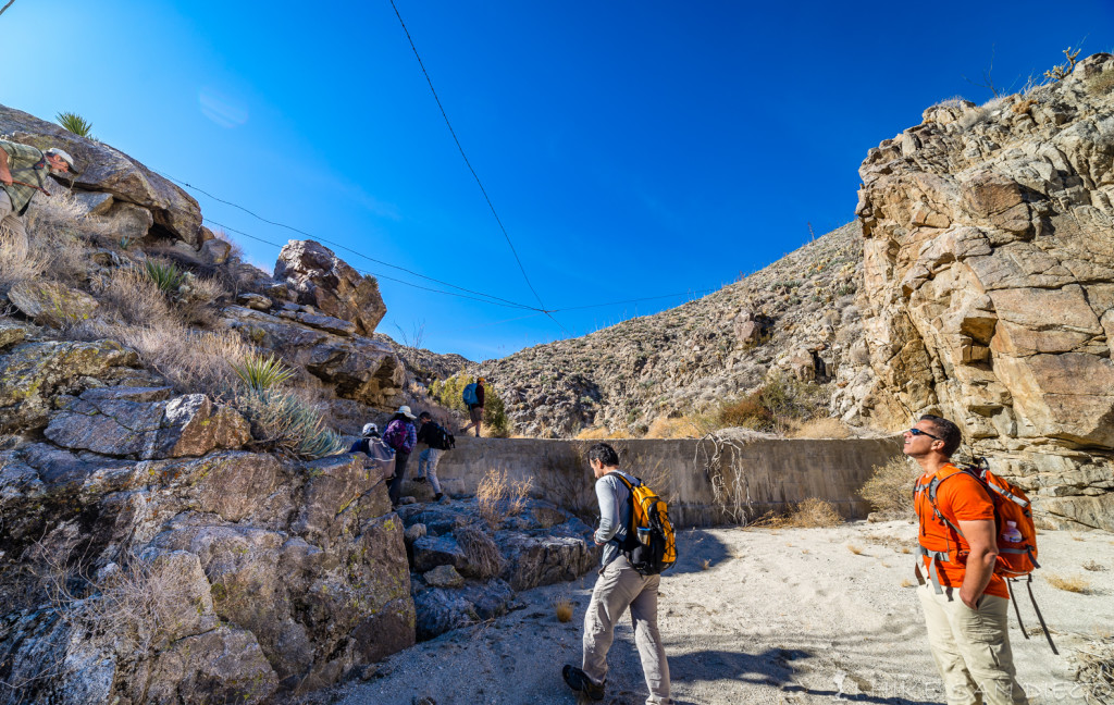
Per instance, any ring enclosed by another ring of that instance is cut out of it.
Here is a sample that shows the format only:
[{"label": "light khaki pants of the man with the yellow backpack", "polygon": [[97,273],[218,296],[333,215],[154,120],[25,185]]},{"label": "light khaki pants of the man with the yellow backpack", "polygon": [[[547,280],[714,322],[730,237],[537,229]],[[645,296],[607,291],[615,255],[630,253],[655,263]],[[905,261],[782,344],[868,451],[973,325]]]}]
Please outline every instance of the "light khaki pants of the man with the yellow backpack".
[{"label": "light khaki pants of the man with the yellow backpack", "polygon": [[661,576],[642,576],[627,559],[618,557],[607,565],[596,580],[592,603],[584,615],[584,672],[595,683],[607,677],[607,650],[615,637],[615,625],[631,608],[634,643],[642,658],[642,670],[649,689],[647,705],[668,704],[670,664],[657,633],[657,586]]}]

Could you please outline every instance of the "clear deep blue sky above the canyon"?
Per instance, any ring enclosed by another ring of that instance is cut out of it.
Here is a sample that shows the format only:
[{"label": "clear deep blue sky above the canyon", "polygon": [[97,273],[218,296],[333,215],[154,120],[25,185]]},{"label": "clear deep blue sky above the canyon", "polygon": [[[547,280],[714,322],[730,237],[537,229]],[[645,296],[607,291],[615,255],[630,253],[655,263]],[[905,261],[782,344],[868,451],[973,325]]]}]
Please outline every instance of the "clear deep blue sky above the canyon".
[{"label": "clear deep blue sky above the canyon", "polygon": [[[547,309],[582,335],[716,288],[853,217],[870,147],[978,82],[1114,47],[1108,0],[395,0]],[[56,41],[48,40],[48,36]],[[537,306],[390,0],[16,0],[0,102],[272,221]],[[195,194],[213,222],[291,233]],[[213,226],[216,229],[216,226]],[[233,235],[253,262],[277,251]],[[349,252],[353,266],[437,288]],[[566,335],[531,311],[380,280],[380,331],[473,360]],[[524,317],[527,316],[527,317]]]}]

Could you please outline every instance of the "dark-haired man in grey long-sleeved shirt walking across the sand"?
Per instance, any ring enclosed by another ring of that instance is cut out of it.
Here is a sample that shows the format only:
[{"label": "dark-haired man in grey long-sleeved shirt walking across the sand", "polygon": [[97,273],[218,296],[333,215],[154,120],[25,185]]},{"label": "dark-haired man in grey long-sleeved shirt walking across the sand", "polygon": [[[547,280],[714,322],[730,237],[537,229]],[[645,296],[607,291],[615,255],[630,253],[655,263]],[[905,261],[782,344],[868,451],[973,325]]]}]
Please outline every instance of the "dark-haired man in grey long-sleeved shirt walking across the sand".
[{"label": "dark-haired man in grey long-sleeved shirt walking across the sand", "polygon": [[631,526],[633,506],[631,490],[616,476],[622,474],[631,483],[637,480],[619,470],[618,453],[607,443],[596,443],[588,450],[588,464],[596,476],[599,528],[594,538],[596,545],[604,546],[603,567],[592,591],[588,611],[584,615],[583,668],[566,665],[561,676],[574,691],[594,701],[604,698],[607,652],[615,635],[615,625],[629,607],[634,640],[649,689],[646,703],[672,703],[670,664],[657,633],[657,587],[662,577],[641,575],[619,550]]}]

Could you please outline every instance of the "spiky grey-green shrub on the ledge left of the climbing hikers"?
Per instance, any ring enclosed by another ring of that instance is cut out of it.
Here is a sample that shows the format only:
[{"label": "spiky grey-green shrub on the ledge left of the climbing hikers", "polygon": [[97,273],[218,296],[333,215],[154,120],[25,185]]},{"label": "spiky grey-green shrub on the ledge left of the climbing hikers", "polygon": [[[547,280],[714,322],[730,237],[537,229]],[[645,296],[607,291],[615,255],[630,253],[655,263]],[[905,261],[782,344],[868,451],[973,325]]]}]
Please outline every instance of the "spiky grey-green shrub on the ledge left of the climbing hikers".
[{"label": "spiky grey-green shrub on the ledge left of the climbing hikers", "polygon": [[325,428],[321,411],[294,392],[246,386],[233,405],[251,421],[252,434],[261,445],[310,459],[344,450],[341,438]]}]

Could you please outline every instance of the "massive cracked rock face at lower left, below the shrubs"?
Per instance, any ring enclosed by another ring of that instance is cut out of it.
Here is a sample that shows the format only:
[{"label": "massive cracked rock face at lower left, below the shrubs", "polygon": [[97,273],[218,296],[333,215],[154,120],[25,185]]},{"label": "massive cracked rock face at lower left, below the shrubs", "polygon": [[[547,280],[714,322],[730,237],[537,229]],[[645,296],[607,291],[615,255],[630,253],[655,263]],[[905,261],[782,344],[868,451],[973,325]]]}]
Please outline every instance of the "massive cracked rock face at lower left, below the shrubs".
[{"label": "massive cracked rock face at lower left, below the shrubs", "polygon": [[413,643],[403,527],[356,457],[244,450],[236,411],[111,341],[7,336],[0,404],[46,424],[0,452],[0,701],[255,703]]}]

